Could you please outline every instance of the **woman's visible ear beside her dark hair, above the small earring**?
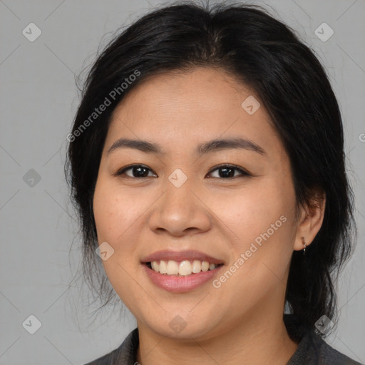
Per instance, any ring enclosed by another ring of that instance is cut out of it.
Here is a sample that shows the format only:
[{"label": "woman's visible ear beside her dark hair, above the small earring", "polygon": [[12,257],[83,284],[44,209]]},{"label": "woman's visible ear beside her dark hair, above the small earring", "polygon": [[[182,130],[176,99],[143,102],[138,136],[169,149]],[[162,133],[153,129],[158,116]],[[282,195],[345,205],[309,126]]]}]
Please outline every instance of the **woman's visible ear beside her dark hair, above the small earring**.
[{"label": "woman's visible ear beside her dark hair, above the small earring", "polygon": [[304,249],[303,239],[307,247],[313,242],[324,218],[324,208],[326,206],[326,194],[320,190],[315,190],[306,205],[300,207],[300,215],[297,223],[297,234],[295,236],[294,250]]}]

